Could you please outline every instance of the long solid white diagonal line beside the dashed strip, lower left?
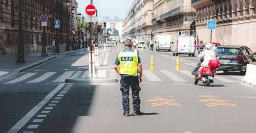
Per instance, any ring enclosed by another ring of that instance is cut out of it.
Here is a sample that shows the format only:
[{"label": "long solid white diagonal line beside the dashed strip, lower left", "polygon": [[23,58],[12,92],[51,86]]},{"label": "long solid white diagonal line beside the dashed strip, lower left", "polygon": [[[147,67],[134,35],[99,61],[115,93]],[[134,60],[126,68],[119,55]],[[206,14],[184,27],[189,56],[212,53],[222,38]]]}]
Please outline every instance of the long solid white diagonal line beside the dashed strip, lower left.
[{"label": "long solid white diagonal line beside the dashed strip, lower left", "polygon": [[51,91],[44,99],[42,99],[33,109],[31,109],[22,119],[20,119],[7,132],[18,132],[44,105],[63,87],[65,83],[59,84],[53,91]]}]

